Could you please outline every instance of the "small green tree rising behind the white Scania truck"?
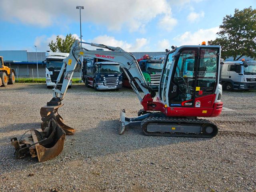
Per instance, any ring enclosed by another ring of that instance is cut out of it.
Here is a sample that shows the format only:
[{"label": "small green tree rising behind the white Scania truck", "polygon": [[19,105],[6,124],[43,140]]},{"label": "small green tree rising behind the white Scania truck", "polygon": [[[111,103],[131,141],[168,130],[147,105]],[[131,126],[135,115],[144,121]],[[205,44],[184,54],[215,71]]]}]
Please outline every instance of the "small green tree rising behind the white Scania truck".
[{"label": "small green tree rising behind the white Scania truck", "polygon": [[76,40],[71,34],[67,34],[65,39],[62,39],[60,36],[57,36],[56,42],[51,41],[48,46],[52,52],[62,52],[69,53],[72,44]]}]

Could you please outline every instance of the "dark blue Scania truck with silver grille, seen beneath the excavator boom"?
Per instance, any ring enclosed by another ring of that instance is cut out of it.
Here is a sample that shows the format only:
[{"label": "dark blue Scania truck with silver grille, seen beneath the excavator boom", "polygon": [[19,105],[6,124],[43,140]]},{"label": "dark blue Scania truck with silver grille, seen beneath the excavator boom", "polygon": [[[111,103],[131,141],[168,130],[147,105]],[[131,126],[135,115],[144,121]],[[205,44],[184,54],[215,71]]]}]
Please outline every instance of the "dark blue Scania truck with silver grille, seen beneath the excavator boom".
[{"label": "dark blue Scania truck with silver grille, seen beneath the excavator boom", "polygon": [[82,80],[95,90],[118,90],[122,88],[120,65],[97,58],[84,58]]}]

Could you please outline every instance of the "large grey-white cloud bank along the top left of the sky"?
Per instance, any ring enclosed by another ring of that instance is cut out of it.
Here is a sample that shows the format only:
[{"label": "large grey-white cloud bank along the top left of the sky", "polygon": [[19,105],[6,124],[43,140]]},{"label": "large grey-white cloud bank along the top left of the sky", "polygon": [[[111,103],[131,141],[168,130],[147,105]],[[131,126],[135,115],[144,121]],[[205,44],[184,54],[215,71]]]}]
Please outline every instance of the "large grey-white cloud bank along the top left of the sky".
[{"label": "large grey-white cloud bank along the top left of the sky", "polygon": [[158,15],[164,15],[166,24],[174,22],[168,0],[1,0],[0,18],[40,27],[64,25],[79,21],[76,5],[85,8],[81,10],[82,22],[104,25],[109,30],[128,27],[130,32],[143,32]]}]

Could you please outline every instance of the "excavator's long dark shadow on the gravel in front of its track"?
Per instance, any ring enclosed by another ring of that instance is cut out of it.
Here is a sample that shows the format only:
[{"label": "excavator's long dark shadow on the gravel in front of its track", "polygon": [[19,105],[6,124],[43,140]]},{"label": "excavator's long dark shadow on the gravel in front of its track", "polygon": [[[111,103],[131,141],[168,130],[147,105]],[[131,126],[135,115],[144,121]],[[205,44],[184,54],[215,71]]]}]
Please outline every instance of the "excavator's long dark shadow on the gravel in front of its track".
[{"label": "excavator's long dark shadow on the gravel in front of its track", "polygon": [[175,147],[172,145],[180,142],[209,140],[208,138],[145,136],[142,134],[140,127],[128,128],[124,134],[119,135],[118,129],[118,120],[100,121],[96,128],[76,132],[72,137],[80,142],[74,143],[74,145],[76,145],[78,149],[84,148],[84,150],[81,150],[83,154],[89,156],[104,156],[106,154],[116,154],[140,150],[142,148],[153,149],[167,145],[170,145],[171,150],[171,148]]}]

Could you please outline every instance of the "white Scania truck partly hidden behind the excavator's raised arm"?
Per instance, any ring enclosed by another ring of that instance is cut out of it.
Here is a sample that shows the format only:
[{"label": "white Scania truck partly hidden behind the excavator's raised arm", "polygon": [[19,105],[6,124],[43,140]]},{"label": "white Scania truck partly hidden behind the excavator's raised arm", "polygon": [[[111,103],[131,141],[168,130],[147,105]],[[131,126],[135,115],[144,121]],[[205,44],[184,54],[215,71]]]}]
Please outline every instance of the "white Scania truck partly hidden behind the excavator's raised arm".
[{"label": "white Scania truck partly hidden behind the excavator's raised arm", "polygon": [[[57,52],[46,52],[46,60],[42,62],[43,67],[45,68],[46,76],[46,86],[47,88],[52,88],[56,85],[56,80],[60,73],[60,69],[63,64],[63,59],[68,57],[68,53],[57,53]],[[60,79],[59,84],[62,85],[63,75]],[[69,83],[69,88],[72,85],[72,80]]]}]

